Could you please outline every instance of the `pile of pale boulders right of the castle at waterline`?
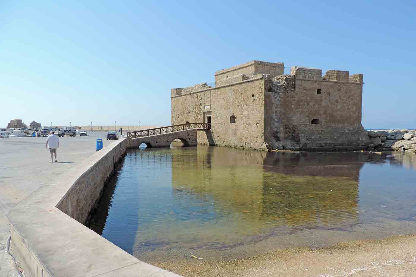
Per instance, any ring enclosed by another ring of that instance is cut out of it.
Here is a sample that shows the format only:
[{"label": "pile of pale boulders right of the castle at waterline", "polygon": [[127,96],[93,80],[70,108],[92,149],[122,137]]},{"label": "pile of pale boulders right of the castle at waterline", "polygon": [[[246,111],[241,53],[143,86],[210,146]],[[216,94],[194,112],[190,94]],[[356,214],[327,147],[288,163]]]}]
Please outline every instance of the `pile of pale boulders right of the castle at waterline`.
[{"label": "pile of pale boulders right of the castle at waterline", "polygon": [[371,130],[369,151],[406,151],[416,153],[416,130]]}]

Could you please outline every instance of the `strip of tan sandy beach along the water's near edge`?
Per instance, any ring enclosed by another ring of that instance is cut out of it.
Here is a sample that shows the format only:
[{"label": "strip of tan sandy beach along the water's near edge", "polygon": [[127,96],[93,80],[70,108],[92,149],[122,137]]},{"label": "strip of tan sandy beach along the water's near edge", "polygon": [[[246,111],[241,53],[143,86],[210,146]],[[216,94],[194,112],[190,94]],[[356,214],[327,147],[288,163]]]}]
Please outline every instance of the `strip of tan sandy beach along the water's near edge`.
[{"label": "strip of tan sandy beach along the water's near edge", "polygon": [[227,262],[156,264],[183,276],[416,276],[416,235],[354,240],[312,250],[290,247]]}]

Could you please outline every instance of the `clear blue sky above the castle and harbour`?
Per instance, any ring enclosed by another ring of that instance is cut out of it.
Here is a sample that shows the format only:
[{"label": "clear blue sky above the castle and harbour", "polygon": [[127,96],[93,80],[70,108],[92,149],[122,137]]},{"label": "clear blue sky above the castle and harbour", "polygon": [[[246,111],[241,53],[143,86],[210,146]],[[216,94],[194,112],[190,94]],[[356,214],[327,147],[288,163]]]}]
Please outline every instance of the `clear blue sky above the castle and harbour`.
[{"label": "clear blue sky above the castle and harbour", "polygon": [[0,0],[0,127],[170,124],[170,89],[254,59],[364,74],[365,128],[416,128],[416,2]]}]

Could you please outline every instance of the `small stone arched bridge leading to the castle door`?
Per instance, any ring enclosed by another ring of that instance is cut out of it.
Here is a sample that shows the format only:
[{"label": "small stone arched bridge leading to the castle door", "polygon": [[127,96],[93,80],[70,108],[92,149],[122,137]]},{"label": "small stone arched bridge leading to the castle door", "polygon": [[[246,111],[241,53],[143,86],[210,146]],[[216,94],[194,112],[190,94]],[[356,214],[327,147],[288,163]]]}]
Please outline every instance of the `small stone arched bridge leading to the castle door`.
[{"label": "small stone arched bridge leading to the castle door", "polygon": [[182,141],[183,146],[196,146],[198,144],[197,129],[188,129],[165,134],[156,134],[151,136],[132,138],[137,147],[145,143],[147,147],[169,147],[175,139]]}]

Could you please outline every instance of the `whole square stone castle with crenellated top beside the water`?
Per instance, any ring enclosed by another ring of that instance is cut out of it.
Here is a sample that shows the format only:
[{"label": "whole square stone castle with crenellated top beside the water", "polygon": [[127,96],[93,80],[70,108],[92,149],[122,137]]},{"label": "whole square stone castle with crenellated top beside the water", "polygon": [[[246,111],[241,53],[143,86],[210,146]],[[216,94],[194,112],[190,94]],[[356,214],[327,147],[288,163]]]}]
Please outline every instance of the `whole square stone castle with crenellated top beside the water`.
[{"label": "whole square stone castle with crenellated top beside the water", "polygon": [[366,148],[363,75],[252,61],[215,72],[206,83],[171,89],[172,125],[210,123],[198,143],[264,150]]}]

